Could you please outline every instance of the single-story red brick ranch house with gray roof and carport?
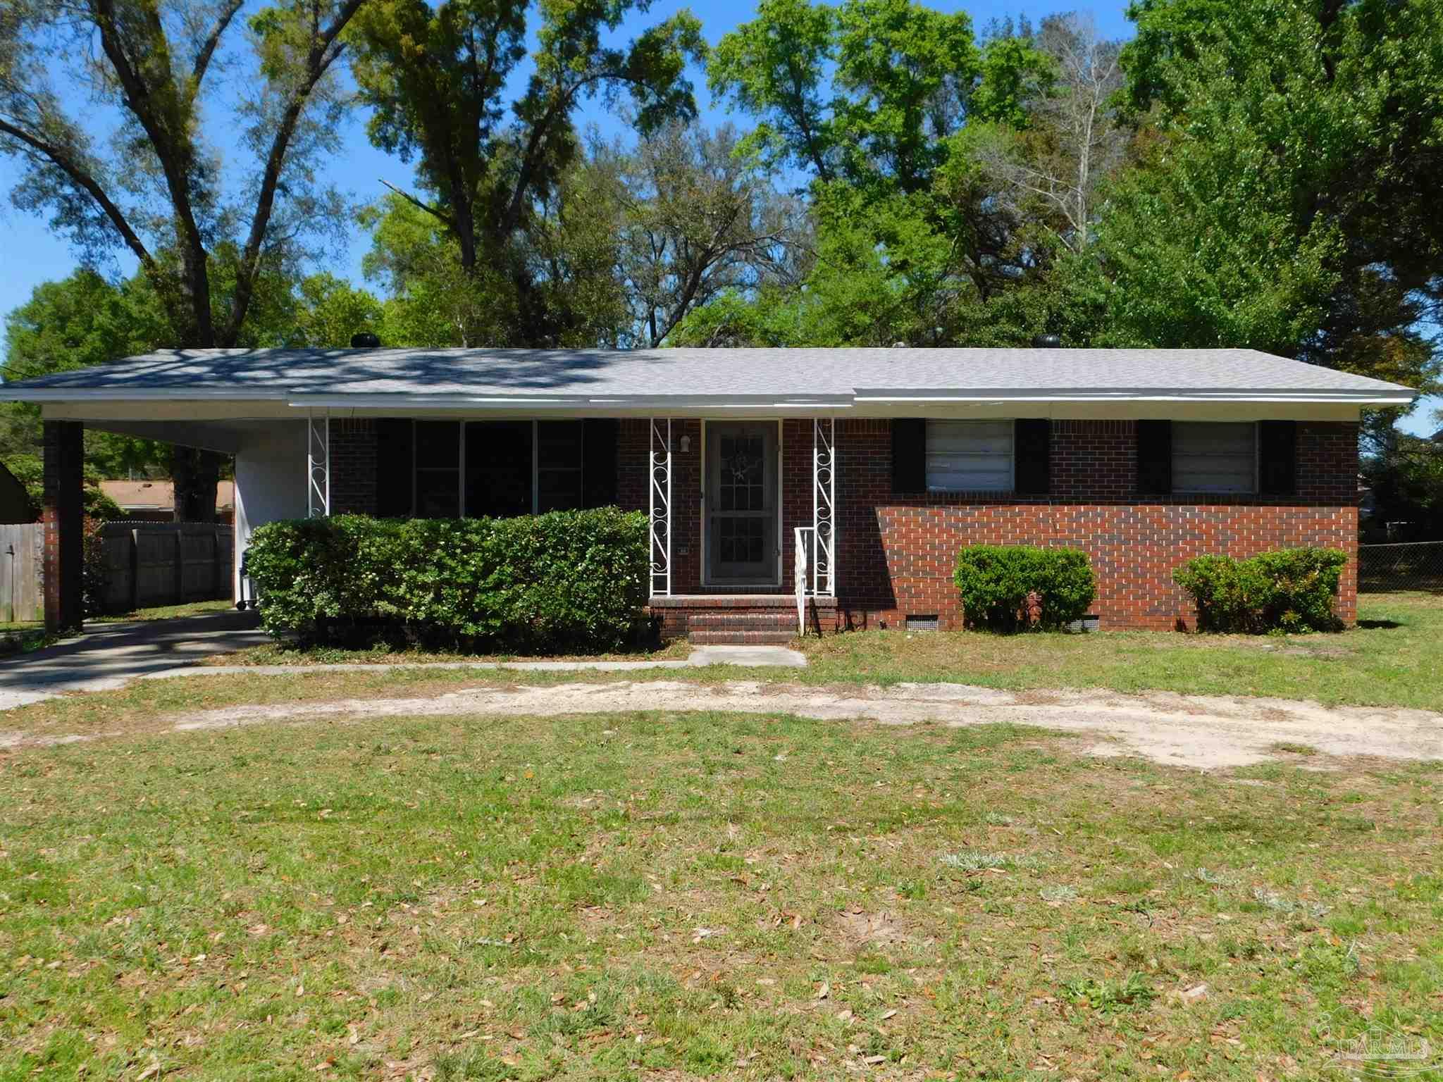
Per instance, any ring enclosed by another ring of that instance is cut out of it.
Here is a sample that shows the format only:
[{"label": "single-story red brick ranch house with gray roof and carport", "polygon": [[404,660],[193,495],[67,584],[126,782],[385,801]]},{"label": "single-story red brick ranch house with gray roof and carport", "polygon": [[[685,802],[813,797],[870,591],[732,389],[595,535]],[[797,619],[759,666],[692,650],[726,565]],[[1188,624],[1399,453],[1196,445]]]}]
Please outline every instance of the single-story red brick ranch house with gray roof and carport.
[{"label": "single-story red brick ranch house with gray roof and carport", "polygon": [[1247,349],[1058,348],[166,351],[6,391],[43,407],[55,626],[89,426],[234,454],[238,554],[317,514],[648,512],[652,610],[711,642],[786,638],[799,604],[957,626],[974,542],[1075,545],[1101,626],[1186,626],[1192,555],[1355,553],[1359,411],[1413,400]]}]

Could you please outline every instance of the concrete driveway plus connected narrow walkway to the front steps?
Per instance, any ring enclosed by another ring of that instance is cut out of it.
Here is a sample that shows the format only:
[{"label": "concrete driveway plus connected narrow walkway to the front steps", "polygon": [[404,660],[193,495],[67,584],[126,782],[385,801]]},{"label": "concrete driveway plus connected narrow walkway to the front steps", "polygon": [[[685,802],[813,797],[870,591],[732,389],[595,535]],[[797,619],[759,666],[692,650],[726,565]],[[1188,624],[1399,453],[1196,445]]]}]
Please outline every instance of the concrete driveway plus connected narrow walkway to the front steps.
[{"label": "concrete driveway plus connected narrow walkway to the front steps", "polygon": [[32,654],[0,658],[0,710],[52,698],[62,691],[107,691],[137,678],[203,677],[247,672],[255,677],[281,672],[326,672],[388,668],[469,668],[582,672],[586,669],[684,669],[698,665],[807,664],[784,646],[698,646],[685,659],[668,661],[453,661],[424,664],[342,665],[199,665],[216,654],[258,646],[271,638],[260,629],[254,612],[221,612],[172,620],[92,623],[84,635]]}]

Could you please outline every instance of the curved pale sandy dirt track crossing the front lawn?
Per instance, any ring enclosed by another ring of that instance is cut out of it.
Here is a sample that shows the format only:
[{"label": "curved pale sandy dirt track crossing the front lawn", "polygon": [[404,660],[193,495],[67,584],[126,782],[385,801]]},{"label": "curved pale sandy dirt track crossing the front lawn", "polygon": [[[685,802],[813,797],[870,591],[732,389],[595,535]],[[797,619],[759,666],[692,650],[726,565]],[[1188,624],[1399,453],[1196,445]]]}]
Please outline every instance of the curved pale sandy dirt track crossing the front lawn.
[{"label": "curved pale sandy dirt track crossing the front lawn", "polygon": [[[1276,746],[1306,744],[1322,756],[1443,759],[1443,716],[1424,710],[1323,707],[1317,703],[1110,691],[994,691],[958,684],[804,687],[727,681],[616,681],[553,687],[476,687],[405,698],[343,698],[319,703],[245,704],[147,720],[137,731],[205,731],[231,726],[297,721],[345,723],[367,717],[554,716],[616,711],[726,710],[782,713],[818,720],[945,726],[1012,723],[1097,740],[1094,756],[1134,755],[1198,769],[1248,766],[1280,757]],[[75,734],[0,734],[0,746],[23,747]]]}]

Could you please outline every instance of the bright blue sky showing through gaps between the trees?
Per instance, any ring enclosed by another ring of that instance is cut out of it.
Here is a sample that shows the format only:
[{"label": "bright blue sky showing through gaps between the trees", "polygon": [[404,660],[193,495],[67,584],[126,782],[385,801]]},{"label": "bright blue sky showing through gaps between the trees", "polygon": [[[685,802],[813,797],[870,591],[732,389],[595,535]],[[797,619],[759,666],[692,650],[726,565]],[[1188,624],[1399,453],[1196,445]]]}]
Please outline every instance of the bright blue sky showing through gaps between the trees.
[{"label": "bright blue sky showing through gaps between the trees", "polygon": [[[1040,19],[1056,10],[1068,10],[1065,3],[1059,4],[1014,4],[1006,0],[977,0],[975,3],[957,4],[948,0],[934,0],[942,10],[965,10],[973,17],[973,23],[981,30],[991,19],[1027,16]],[[631,36],[638,29],[670,17],[678,10],[690,7],[701,19],[707,40],[716,42],[737,23],[752,19],[756,13],[755,3],[726,3],[724,0],[658,0],[645,14],[633,16],[622,27],[619,36]],[[1097,20],[1098,32],[1110,38],[1126,38],[1131,35],[1131,25],[1127,22],[1126,0],[1108,0],[1108,3],[1094,6],[1089,10]],[[701,72],[693,72],[693,81],[698,89],[698,104],[709,123],[719,123],[726,118],[724,110],[716,107],[704,87]],[[84,107],[84,102],[81,102]],[[599,102],[589,102],[582,117],[584,124],[596,124],[603,134],[615,136],[620,131],[619,121],[609,115]],[[343,156],[330,164],[330,180],[342,190],[349,192],[359,201],[378,198],[384,190],[382,180],[408,188],[411,170],[401,162],[388,157],[374,149],[365,137],[365,118],[361,114],[352,115],[348,130],[343,133]],[[228,157],[234,149],[222,146],[222,154]],[[23,214],[14,209],[9,201],[9,190],[14,185],[19,170],[10,159],[0,157],[0,313],[22,304],[29,299],[30,290],[43,281],[63,278],[76,265],[76,260],[69,245],[56,238],[46,228],[43,218]],[[367,238],[359,229],[354,231],[346,250],[338,252],[335,258],[322,264],[323,268],[336,274],[361,280],[361,257],[365,254]],[[130,260],[118,261],[120,270],[130,273],[134,267]],[[1443,403],[1426,401],[1403,424],[1408,431],[1431,431],[1436,426],[1431,421],[1433,410]]]}]

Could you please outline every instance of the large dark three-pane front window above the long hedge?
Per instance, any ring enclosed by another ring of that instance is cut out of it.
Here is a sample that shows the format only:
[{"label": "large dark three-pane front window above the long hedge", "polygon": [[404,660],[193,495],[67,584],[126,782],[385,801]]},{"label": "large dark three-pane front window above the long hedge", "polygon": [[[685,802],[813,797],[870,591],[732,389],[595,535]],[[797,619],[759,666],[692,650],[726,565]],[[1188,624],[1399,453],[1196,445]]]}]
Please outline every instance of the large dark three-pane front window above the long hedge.
[{"label": "large dark three-pane front window above the long hedge", "polygon": [[[584,424],[416,421],[416,516],[506,518],[583,506]],[[605,450],[597,449],[599,462],[608,460]]]}]

